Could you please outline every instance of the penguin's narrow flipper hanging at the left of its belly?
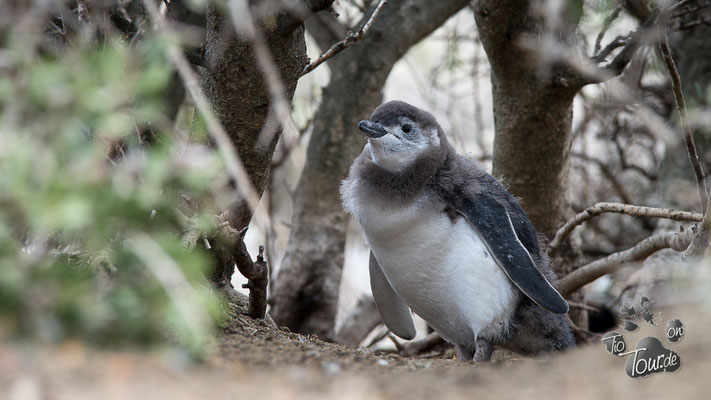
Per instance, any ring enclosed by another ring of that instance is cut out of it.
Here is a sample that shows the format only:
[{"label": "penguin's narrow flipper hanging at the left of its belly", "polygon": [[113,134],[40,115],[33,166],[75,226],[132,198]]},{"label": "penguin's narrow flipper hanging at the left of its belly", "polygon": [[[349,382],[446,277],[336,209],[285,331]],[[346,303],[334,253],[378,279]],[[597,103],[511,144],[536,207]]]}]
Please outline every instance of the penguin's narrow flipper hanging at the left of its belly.
[{"label": "penguin's narrow flipper hanging at the left of its belly", "polygon": [[415,321],[412,319],[412,312],[405,302],[398,296],[390,286],[390,282],[383,274],[383,270],[375,259],[373,252],[370,252],[370,288],[373,290],[375,307],[380,313],[385,326],[399,337],[412,340],[417,334]]}]

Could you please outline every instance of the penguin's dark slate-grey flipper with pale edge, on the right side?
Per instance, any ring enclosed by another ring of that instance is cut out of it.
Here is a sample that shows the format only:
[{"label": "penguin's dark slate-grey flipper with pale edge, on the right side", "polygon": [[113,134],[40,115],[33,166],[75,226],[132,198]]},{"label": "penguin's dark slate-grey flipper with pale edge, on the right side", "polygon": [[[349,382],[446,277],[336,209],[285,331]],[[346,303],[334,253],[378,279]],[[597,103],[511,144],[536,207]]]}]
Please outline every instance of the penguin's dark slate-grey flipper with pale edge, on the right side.
[{"label": "penguin's dark slate-grey flipper with pale edge, on the right side", "polygon": [[[474,227],[509,279],[526,296],[548,311],[568,312],[568,302],[536,268],[531,254],[521,243],[506,207],[492,197],[478,195],[463,199],[458,211]],[[528,220],[525,215],[514,217]]]}]

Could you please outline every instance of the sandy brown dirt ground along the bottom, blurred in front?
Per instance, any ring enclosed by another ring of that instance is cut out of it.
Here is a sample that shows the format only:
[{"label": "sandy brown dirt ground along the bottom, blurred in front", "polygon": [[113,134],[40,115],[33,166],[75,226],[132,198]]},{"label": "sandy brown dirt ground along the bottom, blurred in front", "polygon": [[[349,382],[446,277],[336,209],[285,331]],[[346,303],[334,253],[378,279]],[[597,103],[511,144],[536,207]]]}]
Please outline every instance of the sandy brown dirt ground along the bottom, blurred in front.
[{"label": "sandy brown dirt ground along the bottom, blurred in front", "polygon": [[625,333],[630,347],[655,335],[682,359],[677,372],[641,379],[626,376],[626,360],[601,343],[535,360],[499,353],[497,361],[475,365],[349,349],[237,310],[213,355],[198,365],[165,352],[1,344],[0,399],[709,398],[711,315],[685,309],[671,313],[687,328],[680,343],[663,337],[670,313],[660,326]]}]

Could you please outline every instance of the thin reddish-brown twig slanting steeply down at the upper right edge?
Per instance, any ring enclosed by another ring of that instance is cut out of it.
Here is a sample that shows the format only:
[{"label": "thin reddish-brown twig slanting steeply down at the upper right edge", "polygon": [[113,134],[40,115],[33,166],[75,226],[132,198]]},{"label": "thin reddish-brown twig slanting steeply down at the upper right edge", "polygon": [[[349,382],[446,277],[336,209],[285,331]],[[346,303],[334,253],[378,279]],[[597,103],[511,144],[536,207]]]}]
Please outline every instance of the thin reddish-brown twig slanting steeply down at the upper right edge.
[{"label": "thin reddish-brown twig slanting steeply down at the upper right edge", "polygon": [[679,124],[681,125],[681,130],[684,133],[684,143],[686,143],[686,152],[689,155],[689,161],[691,161],[691,166],[694,169],[694,174],[696,175],[696,187],[699,191],[699,200],[701,201],[701,210],[706,212],[708,203],[708,191],[706,189],[706,181],[704,170],[699,162],[699,155],[696,153],[696,144],[694,143],[694,136],[691,132],[691,127],[689,126],[689,120],[686,113],[686,103],[684,101],[684,94],[681,91],[681,77],[679,76],[679,71],[676,69],[674,64],[674,59],[671,55],[671,50],[669,49],[669,41],[667,38],[666,21],[659,24],[659,50],[661,50],[662,58],[664,59],[664,64],[669,70],[669,76],[671,77],[672,92],[674,93],[674,103],[676,104],[676,111],[679,113]]}]

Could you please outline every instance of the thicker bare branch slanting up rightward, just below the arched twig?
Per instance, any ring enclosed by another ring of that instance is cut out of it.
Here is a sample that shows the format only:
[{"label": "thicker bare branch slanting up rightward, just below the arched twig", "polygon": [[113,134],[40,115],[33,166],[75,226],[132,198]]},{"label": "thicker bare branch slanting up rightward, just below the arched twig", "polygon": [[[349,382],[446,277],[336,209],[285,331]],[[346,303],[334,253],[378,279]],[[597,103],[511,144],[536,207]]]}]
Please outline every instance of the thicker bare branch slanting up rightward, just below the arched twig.
[{"label": "thicker bare branch slanting up rightward, just below the arched twig", "polygon": [[561,295],[567,296],[597,278],[611,274],[631,261],[644,260],[653,253],[672,248],[683,251],[691,241],[689,231],[660,233],[644,239],[634,247],[595,260],[571,272],[558,281],[556,287]]}]

